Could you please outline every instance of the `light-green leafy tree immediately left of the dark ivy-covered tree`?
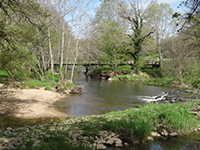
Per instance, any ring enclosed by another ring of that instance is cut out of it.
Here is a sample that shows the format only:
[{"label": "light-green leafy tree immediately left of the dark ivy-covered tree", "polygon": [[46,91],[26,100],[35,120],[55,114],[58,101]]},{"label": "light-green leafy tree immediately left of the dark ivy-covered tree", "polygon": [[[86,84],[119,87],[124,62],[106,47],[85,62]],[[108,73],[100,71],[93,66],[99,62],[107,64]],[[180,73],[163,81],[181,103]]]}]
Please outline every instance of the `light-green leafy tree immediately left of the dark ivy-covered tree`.
[{"label": "light-green leafy tree immediately left of the dark ivy-covered tree", "polygon": [[[100,60],[108,62],[117,71],[119,63],[125,59],[123,47],[127,26],[124,20],[119,16],[120,5],[125,5],[124,1],[110,0],[101,3],[96,11],[93,24],[99,33],[99,49],[101,51]],[[110,9],[112,8],[112,11]]]}]

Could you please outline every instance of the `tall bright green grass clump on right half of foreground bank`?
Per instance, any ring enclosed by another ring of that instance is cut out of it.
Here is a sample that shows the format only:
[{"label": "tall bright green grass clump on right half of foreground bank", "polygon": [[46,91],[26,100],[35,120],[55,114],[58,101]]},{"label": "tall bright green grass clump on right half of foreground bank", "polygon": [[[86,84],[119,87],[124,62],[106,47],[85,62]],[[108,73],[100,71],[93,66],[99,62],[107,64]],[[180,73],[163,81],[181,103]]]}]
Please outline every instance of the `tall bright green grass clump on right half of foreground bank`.
[{"label": "tall bright green grass clump on right half of foreground bank", "polygon": [[120,117],[118,120],[106,121],[103,128],[117,132],[126,140],[143,141],[150,135],[153,128],[162,123],[169,129],[180,134],[189,133],[200,123],[190,113],[195,103],[178,104],[147,104],[140,109],[129,109],[120,112],[111,112],[103,116]]}]

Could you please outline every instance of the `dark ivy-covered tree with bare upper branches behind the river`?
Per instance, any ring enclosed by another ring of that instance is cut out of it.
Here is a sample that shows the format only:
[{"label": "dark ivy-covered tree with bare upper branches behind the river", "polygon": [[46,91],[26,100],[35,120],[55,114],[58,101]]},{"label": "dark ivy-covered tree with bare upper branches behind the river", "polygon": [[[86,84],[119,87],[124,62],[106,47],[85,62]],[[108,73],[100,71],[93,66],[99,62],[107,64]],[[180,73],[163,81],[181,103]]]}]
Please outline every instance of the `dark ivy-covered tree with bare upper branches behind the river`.
[{"label": "dark ivy-covered tree with bare upper branches behind the river", "polygon": [[149,37],[153,32],[143,33],[143,26],[145,24],[145,13],[147,10],[147,2],[128,0],[130,9],[126,10],[121,6],[121,17],[129,22],[131,28],[131,34],[128,36],[133,42],[133,49],[127,51],[127,54],[131,54],[134,58],[134,66],[136,71],[139,70],[139,59],[142,51],[142,43]]}]

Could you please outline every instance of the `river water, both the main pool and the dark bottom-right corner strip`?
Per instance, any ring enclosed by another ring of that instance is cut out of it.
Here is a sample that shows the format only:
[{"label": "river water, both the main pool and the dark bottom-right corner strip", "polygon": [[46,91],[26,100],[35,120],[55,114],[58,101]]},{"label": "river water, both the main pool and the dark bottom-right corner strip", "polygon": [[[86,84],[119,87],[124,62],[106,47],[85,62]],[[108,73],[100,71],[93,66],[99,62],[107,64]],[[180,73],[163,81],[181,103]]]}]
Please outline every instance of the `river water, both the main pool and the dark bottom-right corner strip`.
[{"label": "river water, both the main pool and the dark bottom-right corner strip", "polygon": [[[83,85],[85,93],[69,96],[56,103],[59,110],[72,116],[98,115],[110,111],[133,108],[155,100],[155,97],[168,87],[146,86],[141,82],[107,81],[87,79],[84,74],[77,74],[76,85]],[[145,144],[130,145],[107,150],[200,150],[200,133],[177,138],[157,139]]]}]

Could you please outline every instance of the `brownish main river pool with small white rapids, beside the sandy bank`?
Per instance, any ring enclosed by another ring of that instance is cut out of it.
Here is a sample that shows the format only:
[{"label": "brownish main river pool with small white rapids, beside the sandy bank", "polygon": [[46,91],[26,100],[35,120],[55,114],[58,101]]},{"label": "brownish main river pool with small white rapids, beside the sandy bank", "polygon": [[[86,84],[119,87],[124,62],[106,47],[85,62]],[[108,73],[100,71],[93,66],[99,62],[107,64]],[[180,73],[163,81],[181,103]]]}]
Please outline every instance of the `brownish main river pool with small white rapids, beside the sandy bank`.
[{"label": "brownish main river pool with small white rapids, beside the sandy bank", "polygon": [[76,75],[75,84],[83,85],[85,93],[71,95],[56,105],[61,106],[62,112],[76,117],[125,110],[137,104],[144,105],[155,100],[155,96],[172,90],[168,87],[143,85],[142,82],[86,80],[84,74]]}]

